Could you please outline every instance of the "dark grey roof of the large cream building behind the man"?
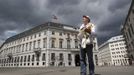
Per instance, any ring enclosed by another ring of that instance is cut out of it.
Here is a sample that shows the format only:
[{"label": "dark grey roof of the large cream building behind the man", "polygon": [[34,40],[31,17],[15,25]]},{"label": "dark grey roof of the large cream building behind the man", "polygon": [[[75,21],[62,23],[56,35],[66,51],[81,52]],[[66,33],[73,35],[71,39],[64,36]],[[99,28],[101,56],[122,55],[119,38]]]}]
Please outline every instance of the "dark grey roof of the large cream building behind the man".
[{"label": "dark grey roof of the large cream building behind the man", "polygon": [[[27,35],[30,35],[30,34],[33,34],[33,33],[36,33],[36,32],[39,32],[43,29],[46,29],[50,26],[54,26],[54,27],[58,27],[58,28],[63,28],[63,26],[69,26],[69,27],[73,27],[73,28],[78,28],[78,26],[71,26],[71,25],[67,25],[67,24],[60,24],[60,23],[55,23],[55,22],[46,22],[44,24],[41,24],[41,25],[38,25],[38,26],[35,26],[31,29],[28,29],[26,31],[23,31],[19,34],[16,34],[12,37],[9,37],[5,40],[5,42],[1,45],[1,47],[5,44],[5,43],[8,43],[8,42],[11,42],[13,40],[16,40],[16,39],[19,39],[19,38],[22,38],[22,37],[25,37]],[[0,48],[1,48],[0,47]]]}]

